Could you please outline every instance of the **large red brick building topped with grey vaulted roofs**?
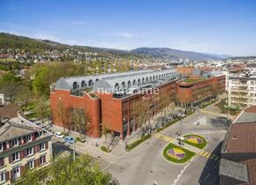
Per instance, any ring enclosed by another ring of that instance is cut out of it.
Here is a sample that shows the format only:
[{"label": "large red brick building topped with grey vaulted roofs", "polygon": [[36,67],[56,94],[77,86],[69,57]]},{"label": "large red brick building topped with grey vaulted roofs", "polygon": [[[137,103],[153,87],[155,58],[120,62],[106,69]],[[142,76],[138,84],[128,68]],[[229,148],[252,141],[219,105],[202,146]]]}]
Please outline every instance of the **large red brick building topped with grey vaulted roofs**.
[{"label": "large red brick building topped with grey vaulted roofs", "polygon": [[171,69],[61,78],[50,93],[52,120],[59,127],[76,131],[81,131],[80,123],[85,124],[91,137],[100,137],[104,126],[124,139],[137,127],[133,105],[147,99],[149,114],[154,115],[162,108],[158,105],[160,95],[175,93],[178,79],[177,70]]}]

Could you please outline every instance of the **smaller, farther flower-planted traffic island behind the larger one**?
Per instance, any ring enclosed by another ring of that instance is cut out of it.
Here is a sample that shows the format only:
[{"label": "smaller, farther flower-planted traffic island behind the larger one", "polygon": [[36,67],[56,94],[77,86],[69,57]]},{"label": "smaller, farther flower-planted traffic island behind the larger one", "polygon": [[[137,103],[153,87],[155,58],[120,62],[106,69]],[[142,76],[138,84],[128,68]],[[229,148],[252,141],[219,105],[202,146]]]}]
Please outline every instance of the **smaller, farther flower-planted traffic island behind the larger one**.
[{"label": "smaller, farther flower-planted traffic island behind the larger one", "polygon": [[203,149],[207,145],[207,140],[204,137],[200,137],[194,134],[185,135],[183,142],[199,149]]}]

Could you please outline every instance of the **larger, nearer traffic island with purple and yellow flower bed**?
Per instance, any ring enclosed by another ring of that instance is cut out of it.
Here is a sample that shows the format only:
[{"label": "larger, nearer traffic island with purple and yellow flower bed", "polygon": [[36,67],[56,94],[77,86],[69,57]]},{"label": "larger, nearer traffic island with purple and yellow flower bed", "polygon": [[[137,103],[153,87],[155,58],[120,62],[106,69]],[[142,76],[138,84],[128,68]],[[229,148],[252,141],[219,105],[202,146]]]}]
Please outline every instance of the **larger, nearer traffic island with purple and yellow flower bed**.
[{"label": "larger, nearer traffic island with purple and yellow flower bed", "polygon": [[195,155],[194,152],[188,151],[175,144],[168,144],[163,150],[163,157],[173,163],[185,163]]}]

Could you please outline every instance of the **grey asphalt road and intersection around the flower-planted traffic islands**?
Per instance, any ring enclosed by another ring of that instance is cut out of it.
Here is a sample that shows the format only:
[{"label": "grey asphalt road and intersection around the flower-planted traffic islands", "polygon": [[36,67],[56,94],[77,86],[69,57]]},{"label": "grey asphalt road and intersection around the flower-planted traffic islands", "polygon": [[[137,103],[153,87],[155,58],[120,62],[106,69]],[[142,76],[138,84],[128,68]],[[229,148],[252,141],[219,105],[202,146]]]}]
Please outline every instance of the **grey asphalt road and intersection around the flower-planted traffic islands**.
[{"label": "grey asphalt road and intersection around the flower-planted traffic islands", "polygon": [[[219,111],[214,106],[206,109],[215,113]],[[198,120],[202,121],[200,125],[196,124]],[[207,146],[204,150],[218,156],[227,125],[225,120],[216,115],[198,112],[186,117],[182,122],[171,125],[163,130],[162,134],[174,138],[180,130],[183,135],[192,133],[206,137]],[[53,144],[56,151],[70,150],[56,138]],[[218,184],[219,161],[197,155],[188,164],[173,164],[162,156],[162,150],[167,144],[167,141],[152,137],[131,152],[115,156],[105,154],[104,158],[99,156],[100,167],[117,178],[121,185]],[[77,150],[86,151],[83,148]]]}]

